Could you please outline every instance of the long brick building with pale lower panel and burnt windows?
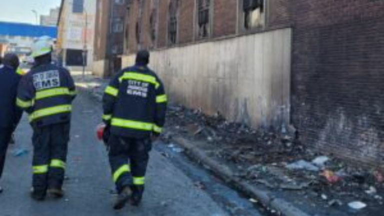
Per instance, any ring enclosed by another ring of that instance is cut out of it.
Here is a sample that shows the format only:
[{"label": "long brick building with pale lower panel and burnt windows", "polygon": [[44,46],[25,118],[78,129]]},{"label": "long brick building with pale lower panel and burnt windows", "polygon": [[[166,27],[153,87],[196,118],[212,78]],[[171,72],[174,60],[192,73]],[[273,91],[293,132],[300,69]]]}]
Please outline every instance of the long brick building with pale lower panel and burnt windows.
[{"label": "long brick building with pale lower panel and burnt windows", "polygon": [[177,102],[383,164],[384,1],[127,3],[123,65],[151,49]]}]

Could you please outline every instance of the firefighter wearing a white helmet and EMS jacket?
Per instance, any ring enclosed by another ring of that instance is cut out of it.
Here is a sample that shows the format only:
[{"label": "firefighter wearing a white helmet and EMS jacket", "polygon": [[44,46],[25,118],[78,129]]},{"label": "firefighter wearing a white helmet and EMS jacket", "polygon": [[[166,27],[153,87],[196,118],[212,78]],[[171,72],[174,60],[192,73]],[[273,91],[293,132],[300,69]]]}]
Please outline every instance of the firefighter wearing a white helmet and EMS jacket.
[{"label": "firefighter wearing a white helmet and EMS jacket", "polygon": [[56,197],[63,195],[61,187],[75,86],[68,70],[51,63],[49,38],[39,38],[32,51],[35,63],[21,79],[17,105],[29,114],[33,128],[31,196],[43,200],[46,192]]}]

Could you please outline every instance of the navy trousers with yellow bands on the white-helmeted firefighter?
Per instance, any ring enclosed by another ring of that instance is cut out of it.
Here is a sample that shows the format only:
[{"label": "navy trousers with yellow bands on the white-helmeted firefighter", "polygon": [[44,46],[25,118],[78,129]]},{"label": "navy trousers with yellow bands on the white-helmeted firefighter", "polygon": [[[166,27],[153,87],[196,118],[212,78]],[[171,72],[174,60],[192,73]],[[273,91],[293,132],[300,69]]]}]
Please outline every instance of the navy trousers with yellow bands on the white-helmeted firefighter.
[{"label": "navy trousers with yellow bands on the white-helmeted firefighter", "polygon": [[33,130],[33,179],[35,189],[61,188],[69,141],[69,123]]}]

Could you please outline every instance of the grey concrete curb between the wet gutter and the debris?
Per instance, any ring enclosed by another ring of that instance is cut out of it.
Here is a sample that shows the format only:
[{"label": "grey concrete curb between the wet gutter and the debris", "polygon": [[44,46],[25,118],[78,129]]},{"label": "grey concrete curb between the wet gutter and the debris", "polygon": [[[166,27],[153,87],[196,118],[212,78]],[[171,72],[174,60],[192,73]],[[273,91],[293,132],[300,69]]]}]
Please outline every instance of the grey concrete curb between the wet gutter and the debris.
[{"label": "grey concrete curb between the wet gutter and the debris", "polygon": [[301,209],[293,206],[285,199],[274,197],[270,191],[257,188],[245,181],[242,181],[232,173],[229,167],[219,164],[217,161],[210,158],[203,150],[195,147],[192,141],[186,140],[182,137],[174,137],[173,141],[184,147],[186,149],[186,153],[190,157],[210,169],[224,181],[233,185],[241,192],[256,198],[264,206],[281,212],[284,216],[310,216]]}]

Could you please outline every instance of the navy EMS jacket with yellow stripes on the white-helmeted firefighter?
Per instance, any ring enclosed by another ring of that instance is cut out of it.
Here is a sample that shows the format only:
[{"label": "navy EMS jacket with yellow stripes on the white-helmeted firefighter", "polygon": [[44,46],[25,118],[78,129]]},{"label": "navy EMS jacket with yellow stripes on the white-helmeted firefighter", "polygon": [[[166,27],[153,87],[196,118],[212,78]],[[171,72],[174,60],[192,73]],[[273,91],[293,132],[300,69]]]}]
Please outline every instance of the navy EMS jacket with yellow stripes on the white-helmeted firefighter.
[{"label": "navy EMS jacket with yellow stripes on the white-helmeted firefighter", "polygon": [[47,126],[70,121],[75,95],[69,71],[47,59],[32,67],[21,79],[17,105],[29,114],[32,126]]}]

